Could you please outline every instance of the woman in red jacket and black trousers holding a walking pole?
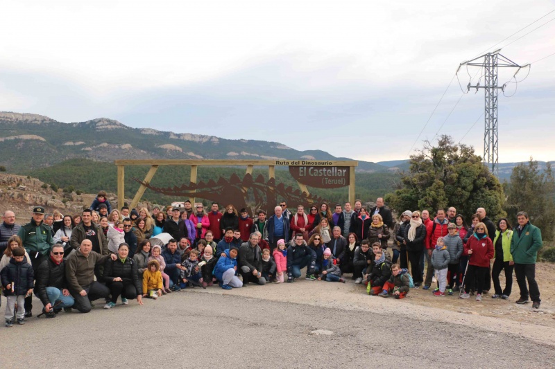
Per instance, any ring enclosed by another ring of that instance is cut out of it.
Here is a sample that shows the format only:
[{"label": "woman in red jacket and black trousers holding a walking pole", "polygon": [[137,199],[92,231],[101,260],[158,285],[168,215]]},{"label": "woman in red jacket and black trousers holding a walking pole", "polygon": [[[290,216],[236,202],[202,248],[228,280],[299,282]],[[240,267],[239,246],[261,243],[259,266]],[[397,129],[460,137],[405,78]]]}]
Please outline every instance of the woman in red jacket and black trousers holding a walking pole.
[{"label": "woman in red jacket and black trousers holding a walking pole", "polygon": [[488,228],[484,223],[478,223],[474,227],[474,234],[468,237],[468,242],[464,245],[465,251],[468,253],[468,270],[466,271],[465,293],[461,294],[461,298],[469,298],[470,287],[474,286],[475,278],[477,278],[477,294],[476,300],[481,301],[481,293],[484,291],[486,275],[489,273],[490,260],[493,259],[494,249],[493,242],[488,237]]}]

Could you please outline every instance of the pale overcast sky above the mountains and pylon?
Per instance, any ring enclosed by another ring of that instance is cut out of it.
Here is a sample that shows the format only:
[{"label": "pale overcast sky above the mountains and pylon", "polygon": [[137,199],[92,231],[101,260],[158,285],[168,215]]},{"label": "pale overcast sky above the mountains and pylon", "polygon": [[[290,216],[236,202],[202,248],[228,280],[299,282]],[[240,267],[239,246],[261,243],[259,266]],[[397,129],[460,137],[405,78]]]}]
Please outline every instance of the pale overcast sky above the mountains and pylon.
[{"label": "pale overcast sky above the mountains and pylon", "polygon": [[[3,1],[0,110],[407,159],[459,63],[552,10],[545,0]],[[555,21],[501,53],[521,65],[555,53]],[[461,94],[455,78],[416,148],[468,132],[484,91],[445,122]],[[499,94],[500,162],[555,160],[554,98],[555,56],[532,64],[514,96]],[[462,142],[481,155],[483,137],[482,117]]]}]

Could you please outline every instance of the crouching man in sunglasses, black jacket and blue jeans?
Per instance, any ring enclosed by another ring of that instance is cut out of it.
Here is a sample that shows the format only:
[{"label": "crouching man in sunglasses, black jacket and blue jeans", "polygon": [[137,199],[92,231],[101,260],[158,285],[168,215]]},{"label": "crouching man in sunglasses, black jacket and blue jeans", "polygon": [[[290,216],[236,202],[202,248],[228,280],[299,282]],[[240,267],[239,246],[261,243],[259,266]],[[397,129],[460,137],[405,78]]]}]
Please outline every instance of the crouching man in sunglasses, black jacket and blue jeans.
[{"label": "crouching man in sunglasses, black jacket and blue jeans", "polygon": [[[64,246],[55,244],[50,258],[40,264],[35,284],[35,294],[40,298],[46,318],[54,318],[63,308],[71,310],[74,298],[69,294],[65,279]],[[53,308],[56,306],[56,308]]]}]

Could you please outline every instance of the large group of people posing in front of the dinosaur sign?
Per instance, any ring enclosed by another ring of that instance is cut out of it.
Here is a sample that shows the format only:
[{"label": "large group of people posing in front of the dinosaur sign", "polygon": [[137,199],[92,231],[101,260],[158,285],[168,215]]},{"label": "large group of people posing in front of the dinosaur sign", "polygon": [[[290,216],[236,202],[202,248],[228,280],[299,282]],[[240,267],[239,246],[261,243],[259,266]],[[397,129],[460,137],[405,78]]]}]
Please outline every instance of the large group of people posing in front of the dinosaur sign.
[{"label": "large group of people posing in front of the dinosaur sign", "polygon": [[190,201],[183,207],[118,210],[103,191],[80,215],[46,215],[37,206],[31,222],[19,226],[8,210],[0,224],[6,326],[32,316],[33,294],[42,314],[53,318],[62,309],[89,312],[99,299],[110,309],[118,299],[142,305],[143,298],[194,286],[293,282],[302,269],[307,280],[345,282],[344,275],[351,274],[368,294],[395,298],[407,296],[410,287],[431,289],[435,275],[434,296],[460,291],[461,298],[475,293],[479,301],[492,279],[492,297],[509,298],[514,269],[517,303],[531,298],[539,307],[540,230],[524,212],[518,213],[514,232],[508,219],[495,226],[484,208],[470,220],[466,226],[449,208],[438,209],[434,218],[428,210],[407,210],[395,222],[382,198],[373,208],[357,200],[333,211],[327,204],[310,206],[307,213],[301,205],[292,213],[281,201],[273,214],[258,210],[255,219],[232,204],[221,212],[214,203],[207,213],[203,204],[193,207]]}]

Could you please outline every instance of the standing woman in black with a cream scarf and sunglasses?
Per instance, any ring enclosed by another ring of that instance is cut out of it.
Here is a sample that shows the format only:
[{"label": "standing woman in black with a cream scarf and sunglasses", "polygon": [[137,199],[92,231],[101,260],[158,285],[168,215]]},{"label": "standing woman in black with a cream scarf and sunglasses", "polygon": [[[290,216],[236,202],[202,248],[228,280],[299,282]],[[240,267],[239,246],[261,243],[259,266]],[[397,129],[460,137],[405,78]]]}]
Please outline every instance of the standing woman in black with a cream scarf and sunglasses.
[{"label": "standing woman in black with a cream scarf and sunglasses", "polygon": [[425,250],[425,240],[426,226],[422,224],[420,212],[416,210],[412,213],[409,224],[404,227],[404,243],[411,264],[414,287],[420,287],[424,281],[422,271],[420,270],[420,260]]}]

